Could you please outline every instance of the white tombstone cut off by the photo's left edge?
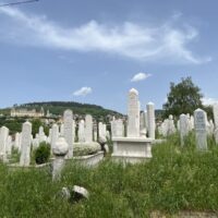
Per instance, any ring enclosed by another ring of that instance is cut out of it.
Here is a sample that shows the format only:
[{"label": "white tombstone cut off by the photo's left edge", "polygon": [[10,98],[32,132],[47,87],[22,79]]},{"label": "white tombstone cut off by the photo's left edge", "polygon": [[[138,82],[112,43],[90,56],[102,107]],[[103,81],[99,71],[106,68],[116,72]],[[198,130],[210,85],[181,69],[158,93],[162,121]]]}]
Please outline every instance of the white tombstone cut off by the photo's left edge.
[{"label": "white tombstone cut off by the photo's left edge", "polygon": [[7,161],[7,141],[9,137],[9,129],[2,126],[0,129],[0,156],[3,161]]}]

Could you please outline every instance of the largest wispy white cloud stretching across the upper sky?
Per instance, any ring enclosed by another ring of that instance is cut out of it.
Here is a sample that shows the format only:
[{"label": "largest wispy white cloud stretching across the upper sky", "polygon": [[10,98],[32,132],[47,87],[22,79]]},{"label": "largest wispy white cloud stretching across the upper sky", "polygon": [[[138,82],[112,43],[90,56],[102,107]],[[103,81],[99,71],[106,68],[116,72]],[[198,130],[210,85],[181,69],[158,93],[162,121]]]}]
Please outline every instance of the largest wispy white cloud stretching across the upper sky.
[{"label": "largest wispy white cloud stretching across the upper sky", "polygon": [[174,27],[166,22],[153,27],[125,22],[111,26],[89,21],[69,28],[46,16],[13,8],[1,8],[0,19],[0,40],[10,43],[81,52],[100,51],[140,61],[199,64],[211,60],[210,57],[197,57],[189,49],[189,44],[198,36],[198,32],[189,25]]}]

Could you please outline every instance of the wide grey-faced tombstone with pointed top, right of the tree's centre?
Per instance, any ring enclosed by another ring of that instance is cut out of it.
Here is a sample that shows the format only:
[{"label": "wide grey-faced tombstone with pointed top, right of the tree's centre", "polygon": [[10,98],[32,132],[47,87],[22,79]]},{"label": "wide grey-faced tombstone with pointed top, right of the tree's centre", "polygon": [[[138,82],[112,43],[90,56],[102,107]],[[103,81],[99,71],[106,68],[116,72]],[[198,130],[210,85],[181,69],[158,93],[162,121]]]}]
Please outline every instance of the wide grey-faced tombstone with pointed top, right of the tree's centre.
[{"label": "wide grey-faced tombstone with pointed top, right of the tree's centre", "polygon": [[197,149],[207,150],[206,113],[202,109],[194,111],[194,129]]}]

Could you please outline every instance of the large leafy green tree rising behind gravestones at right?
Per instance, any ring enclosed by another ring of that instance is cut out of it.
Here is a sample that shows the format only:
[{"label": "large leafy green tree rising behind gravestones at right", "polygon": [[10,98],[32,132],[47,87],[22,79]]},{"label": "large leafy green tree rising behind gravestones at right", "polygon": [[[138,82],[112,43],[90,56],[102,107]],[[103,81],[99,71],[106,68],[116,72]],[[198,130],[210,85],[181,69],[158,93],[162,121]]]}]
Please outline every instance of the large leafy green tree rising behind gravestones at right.
[{"label": "large leafy green tree rising behind gravestones at right", "polygon": [[194,85],[191,77],[182,78],[178,84],[170,83],[170,93],[167,96],[167,102],[164,105],[164,116],[193,114],[195,109],[203,108],[202,97],[199,87]]}]

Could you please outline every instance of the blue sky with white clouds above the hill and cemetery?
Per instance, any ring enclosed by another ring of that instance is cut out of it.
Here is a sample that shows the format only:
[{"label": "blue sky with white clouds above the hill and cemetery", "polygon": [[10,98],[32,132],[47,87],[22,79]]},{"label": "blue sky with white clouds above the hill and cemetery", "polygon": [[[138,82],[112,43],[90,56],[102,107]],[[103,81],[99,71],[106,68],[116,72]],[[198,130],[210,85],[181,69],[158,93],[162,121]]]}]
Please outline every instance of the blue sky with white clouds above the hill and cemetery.
[{"label": "blue sky with white clouds above the hill and cemetery", "polygon": [[170,82],[186,76],[206,104],[217,101],[217,0],[39,0],[0,8],[0,107],[73,100],[125,112],[134,87],[143,108],[148,101],[161,108]]}]

